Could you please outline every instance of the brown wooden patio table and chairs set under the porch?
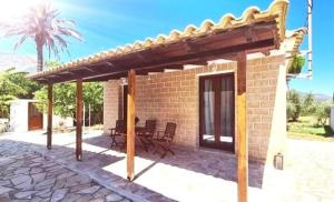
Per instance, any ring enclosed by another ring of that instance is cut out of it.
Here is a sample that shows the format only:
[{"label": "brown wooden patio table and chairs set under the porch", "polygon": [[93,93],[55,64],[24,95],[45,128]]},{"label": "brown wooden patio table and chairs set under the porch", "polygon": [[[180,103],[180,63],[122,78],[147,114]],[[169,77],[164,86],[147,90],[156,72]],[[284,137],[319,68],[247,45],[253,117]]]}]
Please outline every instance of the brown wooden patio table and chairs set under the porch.
[{"label": "brown wooden patio table and chairs set under the porch", "polygon": [[[136,119],[136,124],[139,120]],[[175,137],[176,123],[167,122],[165,131],[157,131],[157,120],[146,120],[145,127],[136,127],[135,133],[136,139],[139,140],[145,151],[149,151],[149,148],[154,148],[154,153],[159,153],[161,159],[169,152],[173,155],[175,154],[171,150],[173,139]],[[121,148],[126,148],[127,143],[127,132],[126,132],[126,123],[124,120],[117,120],[115,128],[110,129],[111,137],[111,145],[117,147],[119,142],[117,142],[117,137],[124,138],[124,143],[121,143]]]}]

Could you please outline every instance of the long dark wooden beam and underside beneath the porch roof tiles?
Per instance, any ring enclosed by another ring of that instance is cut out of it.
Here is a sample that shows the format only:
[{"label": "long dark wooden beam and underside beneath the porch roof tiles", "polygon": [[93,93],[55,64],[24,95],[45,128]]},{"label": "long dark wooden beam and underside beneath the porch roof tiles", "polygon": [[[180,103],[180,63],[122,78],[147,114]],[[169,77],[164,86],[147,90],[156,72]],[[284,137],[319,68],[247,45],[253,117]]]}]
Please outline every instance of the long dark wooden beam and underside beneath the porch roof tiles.
[{"label": "long dark wooden beam and underside beneath the porch roof tiles", "polygon": [[[67,69],[65,71],[75,71],[75,74],[66,74],[58,78],[45,75],[48,81],[57,83],[73,81],[82,78],[85,81],[104,81],[101,78],[117,78],[116,74],[124,73],[130,69],[144,70],[159,69],[171,64],[205,64],[206,61],[215,59],[230,59],[237,52],[266,52],[277,47],[277,28],[273,22],[266,22],[263,26],[243,27],[222,33],[212,33],[205,37],[179,41],[177,43],[156,47],[148,50],[127,53],[117,58],[98,61],[85,67]],[[168,68],[167,68],[168,69]],[[160,70],[157,70],[159,72]],[[61,72],[61,71],[60,71]],[[60,72],[55,74],[60,74]],[[148,73],[148,72],[147,72]],[[46,82],[45,80],[39,80]]]}]

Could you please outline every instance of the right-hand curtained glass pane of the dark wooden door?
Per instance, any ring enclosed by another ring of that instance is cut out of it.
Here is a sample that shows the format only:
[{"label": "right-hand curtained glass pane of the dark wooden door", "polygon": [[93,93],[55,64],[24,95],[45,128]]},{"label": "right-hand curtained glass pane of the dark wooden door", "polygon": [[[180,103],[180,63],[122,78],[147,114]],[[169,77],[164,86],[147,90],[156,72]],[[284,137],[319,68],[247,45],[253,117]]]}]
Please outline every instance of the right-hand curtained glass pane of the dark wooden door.
[{"label": "right-hand curtained glass pane of the dark wooden door", "polygon": [[220,91],[220,142],[233,142],[233,78],[223,78]]}]

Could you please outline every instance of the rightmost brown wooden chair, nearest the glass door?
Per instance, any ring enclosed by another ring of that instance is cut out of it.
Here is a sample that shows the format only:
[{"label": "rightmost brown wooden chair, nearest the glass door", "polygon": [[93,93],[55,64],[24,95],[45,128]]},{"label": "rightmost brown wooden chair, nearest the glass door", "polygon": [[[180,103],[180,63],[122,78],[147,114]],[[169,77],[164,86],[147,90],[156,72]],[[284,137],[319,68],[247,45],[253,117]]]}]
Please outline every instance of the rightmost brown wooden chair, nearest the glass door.
[{"label": "rightmost brown wooden chair, nearest the glass door", "polygon": [[156,150],[155,153],[160,153],[161,150],[161,159],[170,152],[173,155],[175,154],[174,151],[170,149],[173,143],[173,139],[175,137],[176,131],[176,123],[168,122],[166,124],[165,131],[157,131],[157,139],[155,140]]}]

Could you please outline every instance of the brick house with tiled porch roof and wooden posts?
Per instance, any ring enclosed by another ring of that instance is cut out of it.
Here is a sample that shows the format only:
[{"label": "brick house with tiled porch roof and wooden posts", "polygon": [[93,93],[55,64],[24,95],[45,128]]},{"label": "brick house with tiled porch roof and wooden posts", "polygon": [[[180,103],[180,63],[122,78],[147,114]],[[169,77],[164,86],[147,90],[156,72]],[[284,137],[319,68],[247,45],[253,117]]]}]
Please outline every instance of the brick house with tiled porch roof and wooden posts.
[{"label": "brick house with tiled porch roof and wooden posts", "polygon": [[[144,124],[177,124],[175,144],[214,148],[237,155],[240,199],[247,195],[250,160],[272,163],[285,152],[286,73],[305,33],[287,31],[288,1],[267,10],[250,7],[168,36],[96,53],[30,78],[48,84],[51,149],[52,84],[77,83],[76,156],[82,160],[82,82],[105,82],[104,129],[127,120],[127,178],[135,163],[135,117]],[[127,107],[127,108],[125,108]],[[244,200],[242,200],[244,201]]]}]

